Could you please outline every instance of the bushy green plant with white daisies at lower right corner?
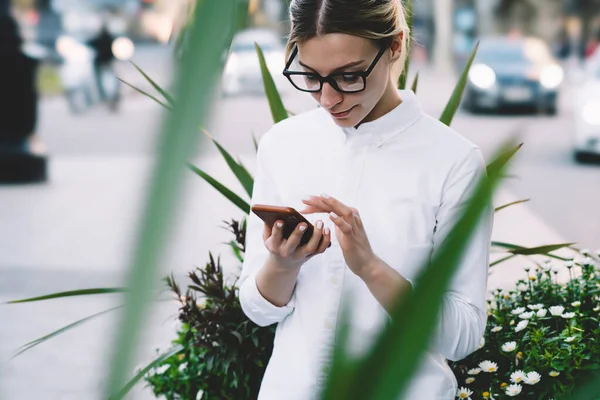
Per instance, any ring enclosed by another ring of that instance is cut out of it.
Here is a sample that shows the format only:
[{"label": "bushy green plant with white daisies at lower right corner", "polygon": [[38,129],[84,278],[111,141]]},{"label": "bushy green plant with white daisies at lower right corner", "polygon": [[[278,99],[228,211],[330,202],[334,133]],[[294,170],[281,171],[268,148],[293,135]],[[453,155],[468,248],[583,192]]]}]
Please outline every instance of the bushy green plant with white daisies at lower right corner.
[{"label": "bushy green plant with white daisies at lower right corner", "polygon": [[[598,256],[580,267],[572,260],[527,266],[512,290],[491,294],[481,348],[450,363],[462,393],[474,400],[570,399],[600,370]],[[569,270],[566,283],[557,281],[561,268]]]}]

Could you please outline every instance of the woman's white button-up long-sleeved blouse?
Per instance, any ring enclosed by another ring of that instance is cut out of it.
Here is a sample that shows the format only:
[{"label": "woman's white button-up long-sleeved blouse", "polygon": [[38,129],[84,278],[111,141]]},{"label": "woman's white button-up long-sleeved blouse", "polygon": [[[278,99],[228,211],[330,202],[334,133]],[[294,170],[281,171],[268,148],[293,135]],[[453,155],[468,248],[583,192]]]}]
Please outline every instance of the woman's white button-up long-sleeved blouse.
[{"label": "woman's white button-up long-sleeved blouse", "polygon": [[[439,248],[485,174],[479,149],[423,113],[411,91],[381,118],[340,128],[322,108],[276,124],[260,141],[252,204],[302,209],[302,199],[327,193],[356,207],[373,251],[413,283]],[[250,215],[240,278],[240,303],[261,326],[277,323],[261,400],[312,399],[324,383],[341,302],[350,306],[350,346],[362,355],[389,320],[366,284],[346,266],[332,229],[332,246],[302,266],[290,302],[277,307],[256,286],[268,252],[263,222]],[[446,359],[460,360],[485,330],[485,294],[493,220],[491,204],[445,293],[439,325],[403,399],[451,400],[457,382]]]}]

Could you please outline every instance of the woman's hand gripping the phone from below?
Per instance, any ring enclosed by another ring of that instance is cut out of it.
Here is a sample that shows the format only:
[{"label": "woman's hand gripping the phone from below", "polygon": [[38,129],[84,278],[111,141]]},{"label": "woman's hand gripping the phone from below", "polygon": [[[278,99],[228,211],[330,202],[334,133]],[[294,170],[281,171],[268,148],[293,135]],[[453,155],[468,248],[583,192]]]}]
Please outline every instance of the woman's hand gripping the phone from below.
[{"label": "woman's hand gripping the phone from below", "polygon": [[324,228],[323,221],[317,221],[313,235],[308,243],[300,246],[300,240],[306,228],[305,223],[298,224],[290,237],[285,239],[283,237],[283,221],[276,221],[273,227],[265,224],[263,240],[271,257],[278,266],[299,268],[311,257],[327,250],[331,244],[331,233],[329,228]]}]

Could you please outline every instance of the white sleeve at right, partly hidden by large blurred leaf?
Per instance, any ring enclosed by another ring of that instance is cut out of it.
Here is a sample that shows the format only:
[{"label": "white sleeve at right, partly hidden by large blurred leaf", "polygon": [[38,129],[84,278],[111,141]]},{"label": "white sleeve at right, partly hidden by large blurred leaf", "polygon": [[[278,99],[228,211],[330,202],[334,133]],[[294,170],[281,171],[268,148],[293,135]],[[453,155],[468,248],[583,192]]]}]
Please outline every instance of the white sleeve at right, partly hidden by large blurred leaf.
[{"label": "white sleeve at right, partly hidden by large blurred leaf", "polygon": [[[469,151],[462,162],[452,169],[436,216],[434,252],[462,215],[475,187],[485,174],[485,163],[476,148]],[[493,215],[493,206],[488,204],[444,295],[432,350],[452,361],[463,359],[477,350],[485,332],[485,296]]]}]

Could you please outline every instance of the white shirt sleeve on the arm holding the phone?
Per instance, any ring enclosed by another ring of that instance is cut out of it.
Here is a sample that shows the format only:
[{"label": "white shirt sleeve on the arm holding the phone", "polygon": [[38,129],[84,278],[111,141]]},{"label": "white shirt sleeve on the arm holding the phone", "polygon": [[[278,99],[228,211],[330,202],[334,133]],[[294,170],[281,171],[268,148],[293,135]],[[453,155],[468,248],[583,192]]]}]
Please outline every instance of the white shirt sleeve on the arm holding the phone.
[{"label": "white shirt sleeve on the arm holding the phone", "polygon": [[[268,146],[268,136],[269,134],[266,134],[259,144],[251,203],[283,205],[266,168],[265,147]],[[287,305],[277,307],[266,300],[256,286],[256,274],[269,254],[262,238],[263,226],[263,221],[250,212],[246,227],[246,253],[239,280],[239,299],[248,318],[257,325],[267,326],[281,322],[293,311],[295,296],[292,296]]]}]

